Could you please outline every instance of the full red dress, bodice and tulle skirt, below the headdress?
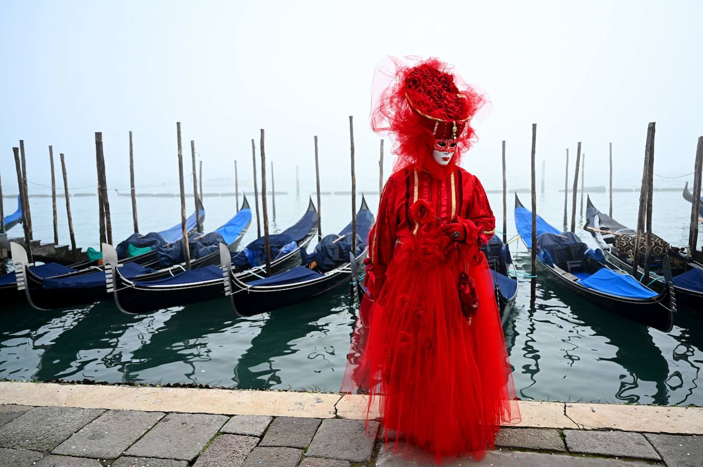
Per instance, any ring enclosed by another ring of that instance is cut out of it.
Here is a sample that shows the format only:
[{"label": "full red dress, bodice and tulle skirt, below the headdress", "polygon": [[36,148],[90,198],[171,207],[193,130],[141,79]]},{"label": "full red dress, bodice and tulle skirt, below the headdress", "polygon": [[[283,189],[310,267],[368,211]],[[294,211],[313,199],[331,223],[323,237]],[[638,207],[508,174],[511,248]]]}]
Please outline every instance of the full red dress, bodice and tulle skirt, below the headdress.
[{"label": "full red dress, bodice and tulle skirt, below the headdress", "polygon": [[[463,224],[466,241],[454,242],[443,223]],[[493,279],[479,250],[494,230],[484,188],[459,167],[435,178],[414,164],[385,185],[364,280],[375,300],[362,303],[342,391],[368,390],[369,406],[378,400],[395,447],[400,439],[437,461],[481,459],[501,422],[518,417]],[[468,318],[461,272],[478,298]]]}]

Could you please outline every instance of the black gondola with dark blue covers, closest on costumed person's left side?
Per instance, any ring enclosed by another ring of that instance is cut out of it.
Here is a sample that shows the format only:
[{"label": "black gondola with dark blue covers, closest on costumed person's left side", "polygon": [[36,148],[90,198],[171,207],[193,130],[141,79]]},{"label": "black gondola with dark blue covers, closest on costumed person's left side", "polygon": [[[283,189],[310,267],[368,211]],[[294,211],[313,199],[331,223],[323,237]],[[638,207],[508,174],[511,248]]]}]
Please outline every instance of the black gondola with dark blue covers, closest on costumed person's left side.
[{"label": "black gondola with dark blue covers, closest on costumed person's left side", "polygon": [[312,254],[303,253],[302,265],[245,282],[233,272],[228,275],[230,303],[239,316],[266,313],[288,305],[295,305],[321,296],[341,284],[349,284],[352,267],[349,253],[354,248],[354,263],[359,265],[366,258],[366,238],[374,218],[366,199],[361,197],[361,207],[356,213],[356,241],[352,240],[352,223],[337,235],[327,235]]}]

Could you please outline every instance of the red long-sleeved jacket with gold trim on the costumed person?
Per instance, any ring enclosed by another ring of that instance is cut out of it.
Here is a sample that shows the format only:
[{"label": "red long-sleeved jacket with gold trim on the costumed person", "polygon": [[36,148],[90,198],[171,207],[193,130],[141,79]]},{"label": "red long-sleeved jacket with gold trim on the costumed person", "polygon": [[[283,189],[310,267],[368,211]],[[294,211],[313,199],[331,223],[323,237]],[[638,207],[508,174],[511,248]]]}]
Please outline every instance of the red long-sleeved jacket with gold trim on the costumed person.
[{"label": "red long-sleeved jacket with gold trim on the costumed person", "polygon": [[376,223],[368,237],[364,285],[372,297],[377,297],[383,286],[396,242],[422,230],[410,213],[418,199],[429,203],[444,223],[463,224],[469,242],[478,239],[486,244],[496,230],[496,218],[481,182],[464,169],[454,167],[443,179],[434,178],[417,164],[397,171],[383,188]]}]

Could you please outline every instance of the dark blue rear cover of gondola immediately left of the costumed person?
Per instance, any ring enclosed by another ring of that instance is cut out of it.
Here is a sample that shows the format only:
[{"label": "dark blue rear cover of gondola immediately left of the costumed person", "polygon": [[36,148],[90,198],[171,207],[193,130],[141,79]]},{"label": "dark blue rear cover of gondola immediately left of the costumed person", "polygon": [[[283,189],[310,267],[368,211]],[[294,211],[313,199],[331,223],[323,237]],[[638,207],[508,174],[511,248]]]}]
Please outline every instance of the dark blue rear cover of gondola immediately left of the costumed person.
[{"label": "dark blue rear cover of gondola immediately left of the costumed person", "polygon": [[[356,213],[356,249],[354,256],[359,256],[366,248],[366,237],[373,226],[373,213],[368,209],[361,209]],[[342,237],[340,239],[340,237]],[[352,223],[343,228],[338,235],[326,235],[316,246],[312,254],[301,250],[304,264],[316,261],[317,267],[323,272],[339,268],[349,263],[349,251],[352,251]]]}]

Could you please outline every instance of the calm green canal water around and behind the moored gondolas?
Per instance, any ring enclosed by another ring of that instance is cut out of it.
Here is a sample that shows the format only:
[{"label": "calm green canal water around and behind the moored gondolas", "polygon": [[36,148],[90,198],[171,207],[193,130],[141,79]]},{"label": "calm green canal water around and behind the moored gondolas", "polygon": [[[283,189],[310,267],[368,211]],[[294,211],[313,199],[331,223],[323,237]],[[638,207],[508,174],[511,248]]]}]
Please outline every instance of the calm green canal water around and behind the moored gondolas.
[{"label": "calm green canal water around and behind the moored gondolas", "polygon": [[[515,235],[512,196],[508,198],[509,238]],[[528,205],[529,194],[522,197]],[[500,229],[501,195],[491,194],[489,199]],[[591,199],[607,211],[605,193],[591,194]],[[367,200],[375,210],[378,195]],[[271,201],[269,197],[269,212]],[[7,213],[13,202],[4,202]],[[250,202],[253,209],[253,199]],[[307,193],[278,195],[273,230],[294,223],[307,202]],[[570,202],[569,197],[569,206]],[[637,205],[637,192],[615,193],[614,217],[635,226]],[[67,242],[63,199],[58,206],[61,240]],[[538,211],[559,228],[563,206],[564,194],[556,189],[538,195]],[[140,230],[174,225],[179,208],[176,197],[138,198]],[[205,230],[214,230],[234,215],[235,199],[205,197],[205,208]],[[111,197],[111,209],[115,239],[123,239],[131,233],[129,197]],[[96,197],[72,197],[72,211],[77,243],[98,246]],[[51,241],[51,199],[32,198],[32,216],[35,237]],[[351,197],[323,196],[322,216],[323,232],[341,230],[351,218]],[[654,193],[654,230],[671,244],[688,242],[689,216],[690,204],[681,192]],[[21,228],[10,233],[20,236]],[[586,232],[577,233],[595,246]],[[255,237],[252,223],[242,245]],[[524,245],[517,241],[510,247],[518,269],[529,272]],[[697,386],[703,366],[703,313],[681,310],[673,330],[663,333],[584,303],[543,277],[538,277],[534,306],[529,294],[529,282],[520,284],[505,326],[522,400],[703,404],[703,391]],[[0,379],[329,392],[340,389],[356,319],[347,287],[250,318],[237,318],[224,299],[139,316],[123,315],[110,302],[49,312],[28,305],[0,303],[0,307]]]}]

